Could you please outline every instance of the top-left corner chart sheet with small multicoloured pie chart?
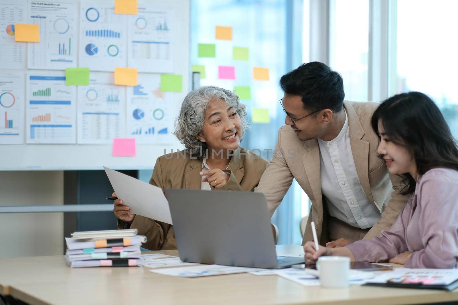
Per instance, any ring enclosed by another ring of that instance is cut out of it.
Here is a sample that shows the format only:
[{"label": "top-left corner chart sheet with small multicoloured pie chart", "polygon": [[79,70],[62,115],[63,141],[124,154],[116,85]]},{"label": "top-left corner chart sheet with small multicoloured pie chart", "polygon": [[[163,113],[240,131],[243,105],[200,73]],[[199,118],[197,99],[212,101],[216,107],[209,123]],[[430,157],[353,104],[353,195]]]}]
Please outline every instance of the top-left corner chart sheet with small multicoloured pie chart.
[{"label": "top-left corner chart sheet with small multicoloured pie chart", "polygon": [[27,23],[27,0],[0,0],[0,67],[26,69],[27,43],[16,43],[15,23]]}]

